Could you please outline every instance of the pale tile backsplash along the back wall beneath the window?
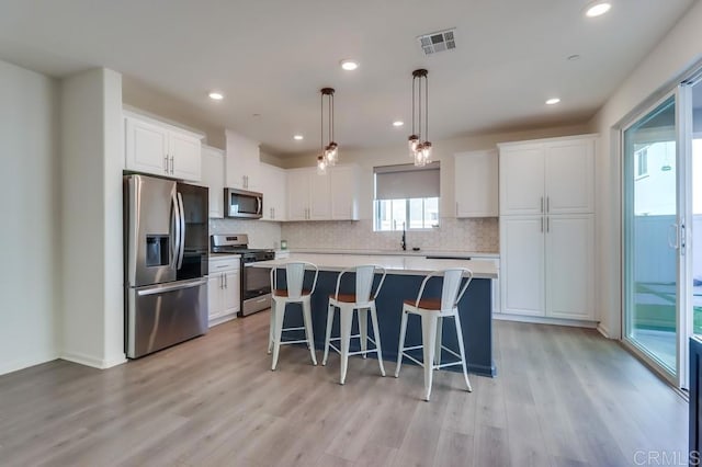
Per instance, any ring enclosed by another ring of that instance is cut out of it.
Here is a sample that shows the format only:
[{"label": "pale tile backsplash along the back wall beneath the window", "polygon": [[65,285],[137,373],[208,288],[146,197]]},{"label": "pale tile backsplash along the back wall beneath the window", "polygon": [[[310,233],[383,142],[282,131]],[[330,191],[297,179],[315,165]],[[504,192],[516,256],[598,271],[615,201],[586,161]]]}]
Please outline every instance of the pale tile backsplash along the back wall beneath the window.
[{"label": "pale tile backsplash along the back wall beneath the window", "polygon": [[[281,238],[287,248],[342,250],[399,250],[401,232],[374,232],[373,220],[283,223]],[[407,249],[428,251],[499,252],[498,218],[441,219],[430,231],[408,231]]]}]

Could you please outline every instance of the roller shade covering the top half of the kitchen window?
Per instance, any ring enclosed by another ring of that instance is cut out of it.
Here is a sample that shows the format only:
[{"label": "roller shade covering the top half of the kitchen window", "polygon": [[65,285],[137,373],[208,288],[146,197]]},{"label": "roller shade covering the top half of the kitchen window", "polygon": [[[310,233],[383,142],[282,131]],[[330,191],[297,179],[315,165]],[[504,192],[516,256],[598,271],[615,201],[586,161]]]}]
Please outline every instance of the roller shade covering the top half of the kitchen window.
[{"label": "roller shade covering the top half of the kitchen window", "polygon": [[439,162],[427,167],[412,164],[376,167],[375,200],[439,197]]}]

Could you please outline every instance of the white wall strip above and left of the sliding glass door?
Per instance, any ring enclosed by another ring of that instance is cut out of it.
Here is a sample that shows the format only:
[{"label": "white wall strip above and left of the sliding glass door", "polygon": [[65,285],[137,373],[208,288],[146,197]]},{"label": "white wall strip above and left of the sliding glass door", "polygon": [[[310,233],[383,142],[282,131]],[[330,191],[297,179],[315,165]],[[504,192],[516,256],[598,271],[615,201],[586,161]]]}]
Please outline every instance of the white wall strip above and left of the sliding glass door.
[{"label": "white wall strip above and left of the sliding glass door", "polygon": [[612,338],[621,337],[621,174],[619,132],[615,126],[636,107],[702,57],[702,2],[688,13],[636,67],[592,118],[592,130],[600,133],[602,151],[597,170],[597,237],[600,328]]}]

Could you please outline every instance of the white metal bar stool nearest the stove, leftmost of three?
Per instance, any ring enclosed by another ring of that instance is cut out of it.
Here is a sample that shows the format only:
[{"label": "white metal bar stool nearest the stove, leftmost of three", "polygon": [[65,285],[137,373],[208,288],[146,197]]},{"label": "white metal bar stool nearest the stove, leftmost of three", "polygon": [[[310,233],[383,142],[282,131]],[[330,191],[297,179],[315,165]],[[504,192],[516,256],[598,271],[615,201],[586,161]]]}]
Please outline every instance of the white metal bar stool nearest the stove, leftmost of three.
[{"label": "white metal bar stool nearest the stove, leftmost of three", "polygon": [[[312,305],[310,297],[315,293],[317,287],[317,276],[319,275],[319,269],[316,264],[304,261],[292,261],[281,265],[285,267],[285,281],[286,288],[278,288],[278,267],[271,269],[271,297],[273,304],[271,306],[271,327],[269,331],[268,353],[273,352],[273,363],[271,369],[274,371],[278,365],[278,356],[281,350],[281,345],[284,344],[301,344],[306,343],[312,355],[312,363],[317,364],[317,356],[315,355],[315,338],[312,331]],[[315,278],[313,281],[312,289],[303,289],[303,283],[305,280],[305,270],[313,270],[315,272]],[[303,321],[304,327],[297,328],[283,328],[283,321],[285,319],[285,308],[287,304],[301,304],[303,307]],[[305,339],[283,341],[282,334],[285,331],[305,331]]]}]

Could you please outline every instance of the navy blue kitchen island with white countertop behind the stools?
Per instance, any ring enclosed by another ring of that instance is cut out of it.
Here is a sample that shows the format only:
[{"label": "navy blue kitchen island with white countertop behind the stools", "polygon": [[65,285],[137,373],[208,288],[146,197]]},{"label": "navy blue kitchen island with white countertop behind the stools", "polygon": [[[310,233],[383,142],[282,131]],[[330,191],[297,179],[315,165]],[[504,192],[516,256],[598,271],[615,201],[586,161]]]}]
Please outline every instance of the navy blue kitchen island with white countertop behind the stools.
[{"label": "navy blue kitchen island with white countertop behind the stools", "polygon": [[[336,258],[335,258],[336,257]],[[253,263],[247,267],[274,267],[287,261],[308,261],[319,267],[317,287],[312,297],[313,332],[315,348],[324,350],[325,331],[327,324],[328,297],[335,293],[339,271],[356,264],[380,264],[387,269],[387,276],[380,295],[376,298],[378,328],[383,350],[383,358],[389,362],[397,361],[399,343],[399,326],[403,310],[403,300],[416,299],[417,293],[426,274],[434,270],[448,267],[467,267],[473,271],[474,277],[465,295],[458,304],[458,314],[463,328],[464,345],[468,372],[484,376],[496,376],[497,369],[492,362],[492,305],[491,281],[497,277],[495,266],[486,261],[466,260],[426,260],[423,258],[395,259],[387,257],[350,257],[344,255],[309,255],[301,254],[286,260],[263,261]],[[284,276],[284,274],[279,274]],[[313,274],[306,275],[305,286],[312,286]],[[352,293],[352,281],[341,284],[341,292]],[[350,277],[351,278],[351,277]],[[376,275],[376,283],[380,275]],[[441,292],[440,282],[432,281],[428,284],[424,296],[438,297]],[[288,305],[290,312],[285,314],[285,327],[302,326],[302,312]],[[443,344],[449,349],[457,349],[456,334],[452,322],[444,320]],[[369,332],[372,334],[371,327]],[[354,319],[353,334],[358,333],[358,322]],[[339,335],[339,318],[335,319],[332,337]],[[284,337],[285,339],[286,337]],[[287,338],[291,338],[290,335]],[[418,317],[410,317],[407,324],[406,345],[421,343],[421,328]],[[371,344],[372,345],[372,344]],[[358,339],[351,340],[351,350],[359,350]],[[320,357],[320,355],[319,355]],[[405,363],[411,363],[405,361]],[[392,367],[394,368],[394,366]],[[460,366],[449,367],[460,371]],[[449,369],[446,368],[446,369]],[[389,369],[389,368],[388,368]],[[390,369],[392,372],[392,369]]]}]

